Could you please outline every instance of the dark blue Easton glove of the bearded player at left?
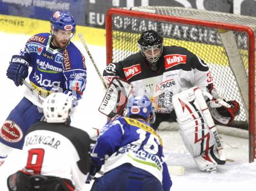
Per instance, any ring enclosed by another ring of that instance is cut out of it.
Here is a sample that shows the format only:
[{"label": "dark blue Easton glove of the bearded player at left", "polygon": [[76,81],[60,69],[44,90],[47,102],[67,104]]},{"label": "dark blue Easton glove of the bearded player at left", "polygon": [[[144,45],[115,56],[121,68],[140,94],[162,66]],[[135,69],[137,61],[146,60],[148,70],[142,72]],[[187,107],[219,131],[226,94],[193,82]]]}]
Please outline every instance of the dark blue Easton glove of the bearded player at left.
[{"label": "dark blue Easton glove of the bearded player at left", "polygon": [[22,78],[26,78],[29,75],[29,63],[23,56],[13,55],[6,75],[15,82],[17,87],[22,85]]}]

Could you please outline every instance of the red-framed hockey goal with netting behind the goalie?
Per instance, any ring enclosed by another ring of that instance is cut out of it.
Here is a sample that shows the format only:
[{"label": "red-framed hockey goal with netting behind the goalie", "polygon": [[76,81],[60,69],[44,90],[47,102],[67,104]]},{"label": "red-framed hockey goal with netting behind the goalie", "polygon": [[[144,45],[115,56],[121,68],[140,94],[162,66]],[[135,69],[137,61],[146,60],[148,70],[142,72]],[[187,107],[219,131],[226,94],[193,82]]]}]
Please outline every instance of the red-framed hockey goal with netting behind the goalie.
[{"label": "red-framed hockey goal with netting behind the goalie", "polygon": [[150,29],[163,45],[183,46],[204,60],[221,96],[240,103],[235,121],[246,124],[253,162],[256,17],[167,6],[112,8],[106,14],[106,64],[138,52],[140,34]]}]

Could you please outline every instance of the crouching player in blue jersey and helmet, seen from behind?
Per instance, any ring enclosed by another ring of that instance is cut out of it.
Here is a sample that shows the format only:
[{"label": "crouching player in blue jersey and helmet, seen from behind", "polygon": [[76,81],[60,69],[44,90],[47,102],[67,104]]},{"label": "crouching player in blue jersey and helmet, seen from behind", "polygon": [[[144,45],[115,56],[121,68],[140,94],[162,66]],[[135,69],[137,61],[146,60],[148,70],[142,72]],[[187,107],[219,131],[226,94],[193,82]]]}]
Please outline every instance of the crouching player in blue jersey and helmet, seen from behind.
[{"label": "crouching player in blue jersey and helmet, seen from behind", "polygon": [[150,125],[155,120],[151,101],[147,96],[133,96],[126,116],[108,122],[91,150],[91,175],[102,165],[104,172],[91,190],[169,191],[172,181],[162,140]]}]

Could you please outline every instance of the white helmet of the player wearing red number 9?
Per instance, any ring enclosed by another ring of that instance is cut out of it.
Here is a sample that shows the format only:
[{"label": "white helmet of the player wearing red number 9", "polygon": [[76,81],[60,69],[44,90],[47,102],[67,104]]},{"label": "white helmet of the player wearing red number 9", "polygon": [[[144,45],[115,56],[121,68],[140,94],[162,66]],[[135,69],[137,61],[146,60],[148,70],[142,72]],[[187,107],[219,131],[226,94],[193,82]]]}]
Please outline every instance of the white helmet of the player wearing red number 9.
[{"label": "white helmet of the player wearing red number 9", "polygon": [[66,122],[72,107],[70,96],[61,92],[51,93],[42,105],[47,122]]}]

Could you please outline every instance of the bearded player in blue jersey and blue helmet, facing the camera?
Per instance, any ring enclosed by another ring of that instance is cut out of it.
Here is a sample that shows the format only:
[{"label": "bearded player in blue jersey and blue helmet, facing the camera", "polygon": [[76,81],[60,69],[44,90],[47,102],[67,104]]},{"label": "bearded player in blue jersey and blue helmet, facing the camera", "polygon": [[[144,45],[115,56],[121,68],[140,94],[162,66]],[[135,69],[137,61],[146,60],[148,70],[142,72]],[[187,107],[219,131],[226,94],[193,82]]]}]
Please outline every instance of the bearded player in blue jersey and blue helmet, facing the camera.
[{"label": "bearded player in blue jersey and blue helmet, facing the camera", "polygon": [[[76,23],[69,12],[60,11],[50,21],[51,34],[29,38],[20,54],[12,56],[6,75],[19,86],[31,67],[29,81],[36,92],[42,97],[63,92],[76,105],[86,87],[87,75],[84,56],[70,42],[76,33]],[[41,102],[27,89],[0,129],[0,165],[13,149],[22,149],[24,134],[43,117],[41,108]]]}]

